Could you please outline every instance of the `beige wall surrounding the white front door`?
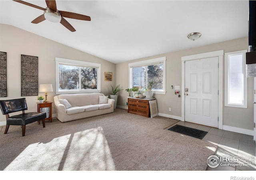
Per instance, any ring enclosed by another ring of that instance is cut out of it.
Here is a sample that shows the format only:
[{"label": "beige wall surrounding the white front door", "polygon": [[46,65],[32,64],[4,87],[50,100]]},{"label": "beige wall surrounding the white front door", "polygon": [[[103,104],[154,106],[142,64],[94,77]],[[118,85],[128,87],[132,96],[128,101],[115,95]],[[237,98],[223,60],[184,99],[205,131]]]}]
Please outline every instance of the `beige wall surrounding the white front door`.
[{"label": "beige wall surrounding the white front door", "polygon": [[[158,101],[158,112],[162,114],[181,116],[181,98],[174,95],[174,89],[171,86],[181,87],[181,57],[189,56],[193,54],[201,54],[205,52],[212,52],[217,50],[224,50],[225,52],[233,52],[238,50],[248,49],[248,38],[239,38],[236,40],[221,42],[217,44],[211,44],[208,46],[202,46],[198,48],[192,48],[188,50],[182,50],[178,52],[171,52],[167,54],[161,54],[157,56],[152,56],[148,58],[142,58],[138,60],[133,60],[130,62],[138,62],[142,60],[148,60],[152,58],[159,58],[166,56],[166,94],[154,94],[154,97]],[[116,84],[121,84],[124,88],[128,88],[128,63],[124,62],[116,64]],[[225,61],[224,61],[225,62]],[[224,67],[224,63],[223,63]],[[224,73],[224,72],[223,72]],[[224,74],[223,74],[224,77]],[[223,87],[224,87],[223,80]],[[253,78],[248,78],[248,108],[231,108],[225,107],[223,101],[223,125],[232,126],[236,128],[243,128],[247,130],[253,130],[253,94],[254,92],[254,82]],[[223,94],[224,89],[223,89]],[[118,105],[126,106],[126,101],[128,93],[123,90],[118,97]],[[224,100],[224,97],[223,97]],[[172,111],[169,111],[169,107]]]}]

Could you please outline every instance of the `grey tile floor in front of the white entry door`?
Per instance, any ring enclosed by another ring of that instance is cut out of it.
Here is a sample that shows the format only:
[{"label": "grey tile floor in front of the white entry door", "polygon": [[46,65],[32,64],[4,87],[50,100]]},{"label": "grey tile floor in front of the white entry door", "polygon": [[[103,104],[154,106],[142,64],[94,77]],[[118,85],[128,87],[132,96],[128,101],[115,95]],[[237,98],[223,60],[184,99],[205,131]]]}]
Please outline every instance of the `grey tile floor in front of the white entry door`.
[{"label": "grey tile floor in front of the white entry door", "polygon": [[[207,170],[256,170],[256,163],[251,163],[252,156],[256,156],[255,141],[253,136],[246,134],[240,134],[236,132],[230,132],[226,130],[220,130],[217,128],[212,128],[209,126],[203,126],[199,124],[194,124],[190,122],[179,121],[176,124],[187,126],[190,128],[195,128],[208,133],[202,141],[210,142],[212,144],[218,145],[215,155],[222,157],[239,157],[239,164],[248,164],[248,158],[250,166],[218,166],[217,168],[208,167]],[[173,124],[172,126],[175,126]],[[172,127],[170,126],[170,127]],[[168,128],[170,128],[168,127]],[[166,129],[168,129],[166,128]],[[256,157],[255,157],[256,158]],[[253,166],[254,165],[254,166]]]}]

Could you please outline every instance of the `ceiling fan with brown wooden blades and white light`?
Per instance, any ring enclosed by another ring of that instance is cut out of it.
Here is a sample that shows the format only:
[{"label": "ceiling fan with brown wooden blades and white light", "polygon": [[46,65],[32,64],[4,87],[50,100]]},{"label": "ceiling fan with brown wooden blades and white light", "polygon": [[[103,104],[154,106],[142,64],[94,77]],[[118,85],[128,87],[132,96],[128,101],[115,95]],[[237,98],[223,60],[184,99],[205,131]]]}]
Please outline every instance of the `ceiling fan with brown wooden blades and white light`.
[{"label": "ceiling fan with brown wooden blades and white light", "polygon": [[42,22],[44,20],[49,20],[50,22],[60,22],[60,24],[62,24],[66,28],[68,28],[68,30],[70,30],[71,32],[74,32],[76,30],[63,17],[78,19],[78,20],[85,20],[85,21],[90,21],[91,20],[90,16],[85,16],[85,15],[77,14],[77,13],[74,13],[74,12],[66,12],[66,11],[57,10],[55,0],[46,0],[45,1],[46,5],[47,5],[46,8],[41,8],[39,6],[36,6],[34,4],[30,4],[28,2],[24,2],[24,1],[19,1],[19,0],[14,0],[14,1],[44,11],[44,14],[42,14],[41,16],[38,16],[36,19],[32,20],[32,23],[34,23],[34,24],[38,24],[39,22]]}]

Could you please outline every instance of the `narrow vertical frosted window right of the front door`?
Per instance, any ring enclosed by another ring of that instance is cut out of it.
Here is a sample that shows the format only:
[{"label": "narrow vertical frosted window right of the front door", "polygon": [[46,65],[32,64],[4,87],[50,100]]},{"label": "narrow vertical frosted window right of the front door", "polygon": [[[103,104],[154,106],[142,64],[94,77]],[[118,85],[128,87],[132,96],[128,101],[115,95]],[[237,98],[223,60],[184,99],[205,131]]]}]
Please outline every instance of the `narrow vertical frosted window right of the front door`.
[{"label": "narrow vertical frosted window right of the front door", "polygon": [[247,108],[246,52],[225,53],[225,106]]}]

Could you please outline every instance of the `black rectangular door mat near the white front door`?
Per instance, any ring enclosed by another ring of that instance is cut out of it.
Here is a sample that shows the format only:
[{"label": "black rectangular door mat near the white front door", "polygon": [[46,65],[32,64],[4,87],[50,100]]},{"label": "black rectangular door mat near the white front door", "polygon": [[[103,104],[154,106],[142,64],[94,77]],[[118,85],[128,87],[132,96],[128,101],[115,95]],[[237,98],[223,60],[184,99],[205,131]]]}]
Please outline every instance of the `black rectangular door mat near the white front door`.
[{"label": "black rectangular door mat near the white front door", "polygon": [[185,134],[187,136],[192,136],[192,137],[198,138],[198,139],[204,138],[204,136],[207,134],[206,131],[202,131],[202,130],[198,130],[198,129],[194,129],[194,128],[189,128],[189,127],[186,127],[186,126],[180,126],[178,124],[176,124],[175,126],[172,126],[168,130],[178,132],[178,133],[181,133],[181,134]]}]

